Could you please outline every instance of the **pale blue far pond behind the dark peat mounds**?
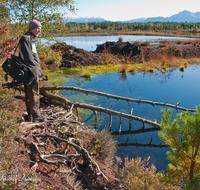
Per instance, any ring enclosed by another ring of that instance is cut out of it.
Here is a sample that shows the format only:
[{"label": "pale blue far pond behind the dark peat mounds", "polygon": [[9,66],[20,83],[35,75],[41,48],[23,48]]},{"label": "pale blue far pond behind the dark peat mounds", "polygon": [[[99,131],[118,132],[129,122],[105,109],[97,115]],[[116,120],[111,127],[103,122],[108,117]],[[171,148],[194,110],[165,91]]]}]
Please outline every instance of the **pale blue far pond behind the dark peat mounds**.
[{"label": "pale blue far pond behind the dark peat mounds", "polygon": [[138,35],[121,35],[121,36],[72,36],[56,37],[57,40],[65,42],[68,45],[84,49],[86,51],[95,51],[98,44],[106,41],[118,41],[122,37],[124,42],[149,41],[158,42],[160,40],[194,40],[194,38],[167,37],[167,36],[138,36]]}]

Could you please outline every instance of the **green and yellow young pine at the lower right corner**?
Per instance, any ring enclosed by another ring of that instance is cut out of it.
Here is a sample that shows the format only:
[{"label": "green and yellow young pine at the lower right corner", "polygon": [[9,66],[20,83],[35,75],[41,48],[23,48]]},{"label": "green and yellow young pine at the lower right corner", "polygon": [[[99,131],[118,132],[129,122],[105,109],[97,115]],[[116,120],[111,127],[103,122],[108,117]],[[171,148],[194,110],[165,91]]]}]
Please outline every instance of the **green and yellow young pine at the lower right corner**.
[{"label": "green and yellow young pine at the lower right corner", "polygon": [[200,181],[196,180],[200,169],[200,106],[191,115],[189,111],[178,113],[173,121],[172,109],[167,112],[162,109],[161,115],[159,136],[171,148],[167,152],[168,179],[180,185],[196,181],[200,186]]}]

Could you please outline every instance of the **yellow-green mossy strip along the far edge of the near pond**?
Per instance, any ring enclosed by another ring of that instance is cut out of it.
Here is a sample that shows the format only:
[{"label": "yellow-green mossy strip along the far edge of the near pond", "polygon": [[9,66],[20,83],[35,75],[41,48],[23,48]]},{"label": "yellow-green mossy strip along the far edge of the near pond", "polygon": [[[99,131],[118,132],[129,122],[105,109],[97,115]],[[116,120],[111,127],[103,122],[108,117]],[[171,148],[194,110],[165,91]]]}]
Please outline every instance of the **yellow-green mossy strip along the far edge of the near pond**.
[{"label": "yellow-green mossy strip along the far edge of the near pond", "polygon": [[[174,51],[173,48],[171,48],[171,51]],[[90,78],[91,74],[105,74],[109,72],[121,72],[121,73],[135,73],[137,71],[142,72],[154,72],[155,69],[160,70],[164,73],[164,70],[167,70],[168,68],[178,68],[181,64],[184,65],[186,68],[189,64],[197,64],[199,63],[200,59],[193,58],[193,59],[187,59],[180,62],[173,62],[168,61],[164,66],[162,66],[162,63],[158,61],[152,61],[151,65],[147,65],[147,63],[134,63],[134,64],[120,64],[120,63],[112,63],[112,64],[102,64],[102,65],[92,65],[92,66],[81,66],[76,68],[70,68],[70,69],[58,69],[54,72],[46,72],[49,78],[55,78],[56,80],[59,78],[63,78],[63,80],[66,80],[66,75],[70,77],[85,77]],[[180,69],[181,70],[181,69]],[[51,80],[52,81],[52,80]],[[60,82],[61,83],[61,82]]]}]

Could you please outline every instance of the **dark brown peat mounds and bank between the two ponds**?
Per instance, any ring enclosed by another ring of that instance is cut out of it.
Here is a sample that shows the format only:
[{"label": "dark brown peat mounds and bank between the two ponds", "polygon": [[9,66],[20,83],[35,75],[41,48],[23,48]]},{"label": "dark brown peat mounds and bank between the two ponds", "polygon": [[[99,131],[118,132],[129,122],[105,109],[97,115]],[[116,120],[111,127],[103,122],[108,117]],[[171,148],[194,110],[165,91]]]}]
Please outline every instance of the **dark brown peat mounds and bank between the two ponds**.
[{"label": "dark brown peat mounds and bank between the two ponds", "polygon": [[[200,41],[168,42],[159,44],[106,42],[97,47],[94,52],[69,46],[65,43],[54,44],[51,48],[62,54],[61,68],[105,64],[106,57],[112,55],[113,63],[142,63],[142,61],[162,60],[172,57],[190,59],[200,58]],[[46,62],[48,65],[48,61]],[[51,62],[52,64],[52,62]],[[51,65],[49,64],[49,65]]]}]

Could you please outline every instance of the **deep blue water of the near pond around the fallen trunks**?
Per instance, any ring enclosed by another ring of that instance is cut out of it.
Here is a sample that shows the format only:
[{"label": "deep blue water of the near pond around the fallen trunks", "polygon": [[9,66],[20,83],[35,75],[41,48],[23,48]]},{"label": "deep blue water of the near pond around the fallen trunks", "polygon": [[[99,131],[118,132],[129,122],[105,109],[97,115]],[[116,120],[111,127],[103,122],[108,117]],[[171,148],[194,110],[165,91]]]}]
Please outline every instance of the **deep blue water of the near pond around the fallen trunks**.
[{"label": "deep blue water of the near pond around the fallen trunks", "polygon": [[[79,80],[83,81],[79,84]],[[195,109],[195,106],[200,104],[200,67],[190,66],[184,72],[179,69],[168,71],[165,74],[161,72],[151,73],[109,73],[92,75],[90,81],[85,81],[84,78],[66,78],[62,82],[63,86],[74,86],[83,89],[97,90],[113,95],[130,97],[133,99],[150,100],[156,102],[168,102],[170,104],[177,104],[180,100],[180,106]],[[161,120],[160,109],[167,109],[166,107],[148,104],[130,103],[128,105],[125,101],[118,101],[114,99],[107,99],[106,97],[98,97],[95,95],[85,95],[79,92],[62,91],[62,93],[70,100],[90,103],[96,106],[113,109],[120,112],[130,113],[133,108],[133,114],[149,120]],[[178,111],[180,112],[180,111]],[[176,116],[177,111],[173,110],[173,117]],[[82,121],[87,125],[94,126],[94,114],[89,110],[84,110],[82,114]],[[98,113],[97,128],[106,128],[109,130],[110,117],[107,114]],[[132,121],[132,131],[141,129],[143,124],[138,121]],[[146,125],[145,128],[150,128]],[[122,119],[122,131],[129,129],[129,120]],[[119,130],[119,118],[113,116],[112,131]],[[158,136],[158,132],[145,132],[140,134],[116,135],[113,136],[120,143],[141,143],[148,144],[164,144]],[[127,141],[128,138],[128,141]],[[136,147],[136,146],[122,146],[118,147],[117,155],[122,159],[125,157],[151,157],[150,163],[153,163],[157,170],[164,170],[167,165],[166,151],[168,148],[153,148],[153,147]]]}]

